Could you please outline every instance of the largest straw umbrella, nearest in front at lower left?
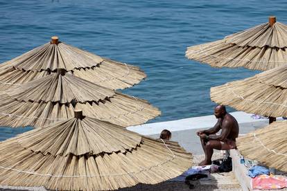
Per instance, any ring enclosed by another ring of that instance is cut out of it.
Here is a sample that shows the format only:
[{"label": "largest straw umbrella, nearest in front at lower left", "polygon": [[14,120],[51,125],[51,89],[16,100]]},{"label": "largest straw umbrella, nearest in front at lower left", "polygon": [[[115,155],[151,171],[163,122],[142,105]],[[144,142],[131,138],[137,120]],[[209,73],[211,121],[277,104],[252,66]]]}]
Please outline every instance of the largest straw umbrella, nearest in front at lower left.
[{"label": "largest straw umbrella, nearest in front at lower left", "polygon": [[155,184],[191,166],[175,142],[82,116],[0,143],[0,184],[49,190],[116,190]]}]

